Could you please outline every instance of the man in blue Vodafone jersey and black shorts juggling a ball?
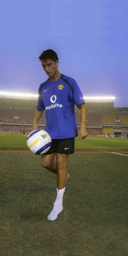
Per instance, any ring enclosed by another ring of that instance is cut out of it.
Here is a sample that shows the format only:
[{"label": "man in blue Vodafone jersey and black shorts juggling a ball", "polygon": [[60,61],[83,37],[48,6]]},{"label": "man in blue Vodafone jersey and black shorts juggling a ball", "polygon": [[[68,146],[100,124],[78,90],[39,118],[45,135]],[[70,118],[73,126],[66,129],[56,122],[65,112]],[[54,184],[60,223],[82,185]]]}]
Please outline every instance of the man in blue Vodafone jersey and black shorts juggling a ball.
[{"label": "man in blue Vodafone jersey and black shorts juggling a ball", "polygon": [[37,123],[46,110],[46,131],[52,138],[52,146],[41,159],[43,167],[57,175],[56,200],[48,215],[48,220],[54,221],[63,210],[63,194],[69,177],[67,159],[74,152],[74,138],[78,136],[74,104],[80,109],[81,139],[87,136],[86,105],[76,81],[59,72],[59,59],[54,50],[44,50],[39,60],[49,78],[39,87],[33,130],[37,129]]}]

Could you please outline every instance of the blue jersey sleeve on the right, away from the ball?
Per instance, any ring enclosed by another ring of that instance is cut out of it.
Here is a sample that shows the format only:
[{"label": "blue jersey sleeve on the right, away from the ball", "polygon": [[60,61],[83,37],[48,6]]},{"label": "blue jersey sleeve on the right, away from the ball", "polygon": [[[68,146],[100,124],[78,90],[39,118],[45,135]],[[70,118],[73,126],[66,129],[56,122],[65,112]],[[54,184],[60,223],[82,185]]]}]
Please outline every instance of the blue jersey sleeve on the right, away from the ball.
[{"label": "blue jersey sleeve on the right, away from the ball", "polygon": [[73,102],[76,106],[79,107],[80,104],[85,104],[85,100],[84,100],[81,90],[75,80],[73,81],[73,84],[74,84]]}]

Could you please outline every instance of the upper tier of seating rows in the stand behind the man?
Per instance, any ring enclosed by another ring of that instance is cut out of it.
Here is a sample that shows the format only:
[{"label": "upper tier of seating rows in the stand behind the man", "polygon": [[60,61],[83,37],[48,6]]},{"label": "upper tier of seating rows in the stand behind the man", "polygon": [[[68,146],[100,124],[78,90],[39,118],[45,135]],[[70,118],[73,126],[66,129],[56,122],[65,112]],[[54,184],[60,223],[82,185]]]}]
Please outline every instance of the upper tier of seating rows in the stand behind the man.
[{"label": "upper tier of seating rows in the stand behind the man", "polygon": [[[35,116],[35,111],[27,111],[27,110],[1,110],[0,114],[0,123],[12,123],[12,124],[32,124]],[[78,126],[80,126],[80,113],[79,110],[75,112],[76,121]],[[87,113],[87,126],[97,126],[100,127],[102,124],[104,125],[114,125],[115,120],[120,120],[118,124],[128,124],[128,115],[120,114],[120,116],[113,113],[105,113],[100,116],[95,113]],[[43,113],[41,119],[39,120],[39,124],[45,124],[46,118]]]}]

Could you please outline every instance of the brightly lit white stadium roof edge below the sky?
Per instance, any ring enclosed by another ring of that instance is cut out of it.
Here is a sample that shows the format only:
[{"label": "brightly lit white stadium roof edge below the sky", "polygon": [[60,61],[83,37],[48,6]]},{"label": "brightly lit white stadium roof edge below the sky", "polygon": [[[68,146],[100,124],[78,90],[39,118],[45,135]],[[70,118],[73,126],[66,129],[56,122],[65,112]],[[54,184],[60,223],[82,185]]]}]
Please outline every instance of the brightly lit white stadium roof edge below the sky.
[{"label": "brightly lit white stadium roof edge below the sky", "polygon": [[[37,100],[38,94],[0,91],[1,98]],[[84,96],[86,102],[114,102],[114,96]]]}]

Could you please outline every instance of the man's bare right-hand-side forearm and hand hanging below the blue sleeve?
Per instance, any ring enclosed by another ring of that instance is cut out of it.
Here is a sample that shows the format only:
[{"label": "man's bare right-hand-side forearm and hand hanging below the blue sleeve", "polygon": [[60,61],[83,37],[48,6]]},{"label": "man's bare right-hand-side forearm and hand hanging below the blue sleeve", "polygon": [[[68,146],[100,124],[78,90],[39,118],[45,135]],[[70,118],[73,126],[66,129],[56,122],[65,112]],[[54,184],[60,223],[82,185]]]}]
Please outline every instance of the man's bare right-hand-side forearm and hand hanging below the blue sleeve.
[{"label": "man's bare right-hand-side forearm and hand hanging below the blue sleeve", "polygon": [[86,104],[81,104],[79,106],[80,108],[80,131],[79,131],[79,138],[85,139],[87,137],[87,130],[86,130],[86,118],[87,118],[87,110],[86,110]]}]

